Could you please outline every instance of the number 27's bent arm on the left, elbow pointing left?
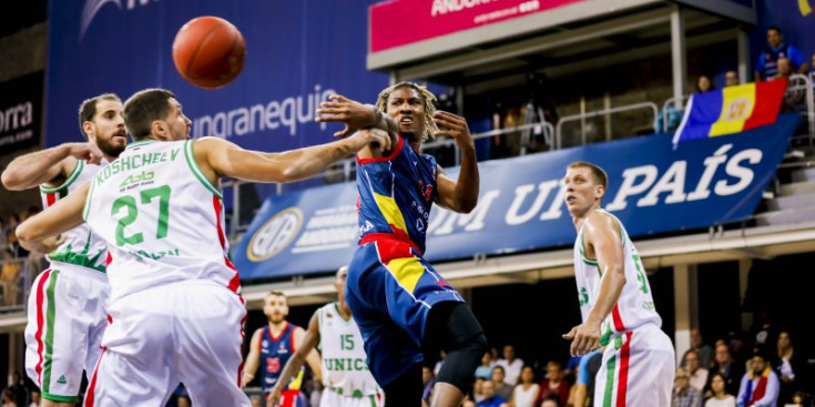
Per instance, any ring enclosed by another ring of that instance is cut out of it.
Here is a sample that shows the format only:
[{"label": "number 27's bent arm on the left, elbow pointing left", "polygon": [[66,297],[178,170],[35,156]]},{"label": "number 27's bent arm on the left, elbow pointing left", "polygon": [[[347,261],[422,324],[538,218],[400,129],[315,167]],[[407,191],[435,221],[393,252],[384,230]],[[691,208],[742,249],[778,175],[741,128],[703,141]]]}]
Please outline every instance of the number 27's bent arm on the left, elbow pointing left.
[{"label": "number 27's bent arm on the left, elbow pointing left", "polygon": [[17,238],[20,245],[28,251],[40,253],[48,253],[55,248],[54,244],[59,246],[59,241],[54,243],[54,238],[60,233],[85,222],[82,218],[82,211],[85,207],[91,182],[84,183],[73,193],[17,226]]}]

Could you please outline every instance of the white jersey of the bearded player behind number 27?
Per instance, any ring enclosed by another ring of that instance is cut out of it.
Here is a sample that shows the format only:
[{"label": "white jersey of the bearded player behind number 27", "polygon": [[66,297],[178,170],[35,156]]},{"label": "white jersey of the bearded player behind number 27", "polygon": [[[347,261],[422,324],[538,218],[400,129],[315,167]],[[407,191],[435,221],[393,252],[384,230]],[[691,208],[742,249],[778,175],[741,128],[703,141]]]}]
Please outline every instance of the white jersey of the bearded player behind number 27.
[{"label": "white jersey of the bearded player behind number 27", "polygon": [[[42,207],[49,207],[68,196],[91,180],[100,169],[99,165],[85,164],[84,161],[77,160],[77,166],[61,185],[53,187],[40,185]],[[95,234],[89,224],[79,225],[63,233],[62,236],[65,237],[65,242],[48,254],[50,262],[69,263],[104,273],[108,247],[104,240]]]}]

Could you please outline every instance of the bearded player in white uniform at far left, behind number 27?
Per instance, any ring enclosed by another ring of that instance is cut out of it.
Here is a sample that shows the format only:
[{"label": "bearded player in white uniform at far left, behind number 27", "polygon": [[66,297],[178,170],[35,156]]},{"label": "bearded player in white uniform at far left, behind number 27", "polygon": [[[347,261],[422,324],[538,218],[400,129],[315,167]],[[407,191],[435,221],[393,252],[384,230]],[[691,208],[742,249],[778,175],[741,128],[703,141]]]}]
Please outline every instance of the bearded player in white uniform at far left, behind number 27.
[{"label": "bearded player in white uniform at far left, behind number 27", "polygon": [[[79,189],[124,151],[122,101],[104,93],[82,102],[79,125],[84,143],[65,143],[14,159],[2,173],[11,191],[38,187],[43,207]],[[73,406],[82,383],[100,354],[108,326],[106,246],[88,226],[78,226],[44,243],[49,268],[40,273],[29,296],[26,369],[38,385],[42,405]],[[75,293],[81,292],[82,296]]]}]

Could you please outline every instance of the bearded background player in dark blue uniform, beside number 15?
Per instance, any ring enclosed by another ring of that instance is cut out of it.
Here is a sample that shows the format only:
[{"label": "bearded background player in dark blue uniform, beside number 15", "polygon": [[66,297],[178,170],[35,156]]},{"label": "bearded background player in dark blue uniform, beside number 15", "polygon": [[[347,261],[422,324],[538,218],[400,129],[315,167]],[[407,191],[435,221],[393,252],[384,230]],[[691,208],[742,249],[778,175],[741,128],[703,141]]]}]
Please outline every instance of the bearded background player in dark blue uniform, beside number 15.
[{"label": "bearded background player in dark blue uniform, beside number 15", "polygon": [[[297,352],[297,346],[303,342],[306,332],[286,320],[288,316],[288,304],[283,292],[273,291],[264,299],[263,313],[268,319],[266,326],[258,328],[252,335],[249,354],[246,356],[246,365],[243,372],[244,385],[252,381],[259,367],[261,388],[264,397],[268,398],[272,389],[281,378],[283,367]],[[320,378],[320,362],[316,350],[310,350],[306,356],[312,372]],[[303,385],[303,370],[286,383],[281,391],[282,407],[305,406],[305,398],[300,393]]]}]

